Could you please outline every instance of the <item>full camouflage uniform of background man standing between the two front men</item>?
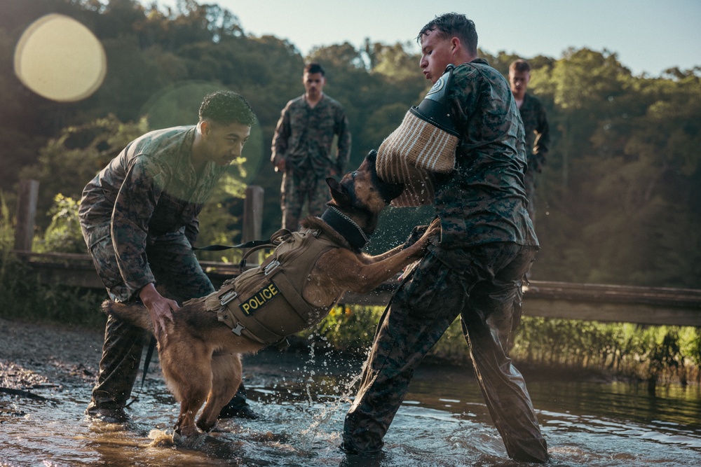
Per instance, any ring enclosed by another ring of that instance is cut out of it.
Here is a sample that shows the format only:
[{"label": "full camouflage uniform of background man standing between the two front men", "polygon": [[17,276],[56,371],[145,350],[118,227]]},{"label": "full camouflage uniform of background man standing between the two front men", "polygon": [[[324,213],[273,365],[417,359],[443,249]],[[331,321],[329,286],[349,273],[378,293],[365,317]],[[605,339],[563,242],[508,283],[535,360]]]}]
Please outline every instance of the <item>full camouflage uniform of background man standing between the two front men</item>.
[{"label": "full camouflage uniform of background man standing between the two front men", "polygon": [[[338,152],[332,155],[334,136]],[[297,230],[302,207],[320,216],[329,200],[325,183],[332,171],[342,174],[351,156],[351,130],[339,102],[323,95],[311,107],[304,95],[287,102],[273,137],[273,164],[285,159],[287,167],[280,187],[283,228]]]}]

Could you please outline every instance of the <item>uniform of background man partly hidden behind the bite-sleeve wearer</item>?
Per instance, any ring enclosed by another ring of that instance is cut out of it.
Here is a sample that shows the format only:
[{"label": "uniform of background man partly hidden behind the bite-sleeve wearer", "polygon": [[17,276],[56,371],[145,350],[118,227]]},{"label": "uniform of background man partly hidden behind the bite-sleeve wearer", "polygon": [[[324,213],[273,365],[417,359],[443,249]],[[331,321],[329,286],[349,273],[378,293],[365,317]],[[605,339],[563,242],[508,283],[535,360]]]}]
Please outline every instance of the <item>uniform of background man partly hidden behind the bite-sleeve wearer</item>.
[{"label": "uniform of background man partly hidden behind the bite-sleeve wearer", "polygon": [[545,107],[540,104],[537,97],[526,92],[524,102],[519,109],[521,119],[526,132],[526,154],[528,167],[524,182],[526,184],[526,198],[528,198],[528,212],[533,225],[536,224],[536,188],[538,187],[538,174],[543,170],[547,158],[548,144],[550,144],[550,129],[547,126]]}]

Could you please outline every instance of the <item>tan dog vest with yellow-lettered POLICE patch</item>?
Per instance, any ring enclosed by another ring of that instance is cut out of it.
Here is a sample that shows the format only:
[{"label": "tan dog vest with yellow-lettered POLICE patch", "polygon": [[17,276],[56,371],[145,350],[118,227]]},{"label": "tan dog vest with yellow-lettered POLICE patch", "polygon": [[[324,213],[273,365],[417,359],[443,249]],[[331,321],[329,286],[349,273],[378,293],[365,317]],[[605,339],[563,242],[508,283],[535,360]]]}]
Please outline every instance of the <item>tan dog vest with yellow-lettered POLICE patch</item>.
[{"label": "tan dog vest with yellow-lettered POLICE patch", "polygon": [[320,230],[279,230],[271,245],[277,245],[275,251],[259,267],[228,279],[215,293],[190,300],[203,300],[233,333],[266,345],[319,323],[338,300],[315,307],[301,296],[318,258],[339,247],[332,239]]}]

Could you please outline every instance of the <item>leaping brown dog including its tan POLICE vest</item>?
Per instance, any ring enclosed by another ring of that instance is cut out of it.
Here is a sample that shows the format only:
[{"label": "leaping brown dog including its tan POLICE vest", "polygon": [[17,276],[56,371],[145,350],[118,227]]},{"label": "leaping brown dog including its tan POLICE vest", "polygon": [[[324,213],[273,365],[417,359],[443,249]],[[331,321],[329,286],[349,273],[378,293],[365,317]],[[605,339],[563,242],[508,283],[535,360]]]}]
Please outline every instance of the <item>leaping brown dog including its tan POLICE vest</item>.
[{"label": "leaping brown dog including its tan POLICE vest", "polygon": [[[292,274],[304,276],[297,298],[290,298],[294,291],[285,295],[283,284],[287,279],[276,279],[283,278],[282,275],[273,277],[262,287],[256,286],[258,289],[247,295],[237,290],[238,283],[230,279],[218,292],[189,300],[173,312],[172,322],[166,323],[165,336],[158,341],[158,357],[165,382],[180,403],[176,433],[191,436],[200,433],[198,428],[202,431],[215,428],[219,411],[240,384],[241,354],[254,353],[273,344],[278,337],[313,326],[344,293],[372,291],[423,256],[430,238],[440,232],[437,221],[419,234],[416,242],[396,246],[378,256],[362,253],[381,211],[402,193],[402,186],[383,183],[378,178],[375,160],[376,153],[372,151],[355,172],[346,174],[340,182],[327,179],[332,197],[327,211],[321,217],[309,216],[301,222],[299,235],[323,237],[328,247],[308,260],[310,264],[301,265],[308,274]],[[292,234],[288,234],[285,238],[291,242]],[[277,263],[277,260],[262,263],[261,273],[267,275]],[[285,295],[285,300],[278,299],[281,295]],[[239,305],[227,307],[232,297],[238,298]],[[290,304],[292,311],[285,309]],[[107,300],[102,307],[104,312],[153,333],[149,313],[143,305]],[[297,314],[305,307],[313,313],[300,318]],[[290,320],[301,324],[279,328],[278,323]]]}]

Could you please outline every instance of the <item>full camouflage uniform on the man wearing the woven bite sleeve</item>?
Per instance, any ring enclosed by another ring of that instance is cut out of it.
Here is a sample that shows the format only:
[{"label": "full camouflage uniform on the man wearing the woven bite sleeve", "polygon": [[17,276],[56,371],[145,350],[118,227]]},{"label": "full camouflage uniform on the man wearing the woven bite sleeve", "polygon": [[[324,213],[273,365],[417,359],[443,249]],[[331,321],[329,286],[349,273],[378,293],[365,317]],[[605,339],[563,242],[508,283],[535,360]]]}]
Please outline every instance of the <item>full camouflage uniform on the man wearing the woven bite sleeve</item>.
[{"label": "full camouflage uniform on the man wearing the woven bite sleeve", "polygon": [[461,141],[456,169],[437,183],[440,242],[386,308],[346,415],[343,448],[372,453],[414,370],[461,316],[477,382],[508,454],[545,461],[547,447],[524,379],[507,356],[520,321],[522,278],[538,249],[526,212],[524,130],[507,81],[482,59],[453,74],[448,102]]}]

